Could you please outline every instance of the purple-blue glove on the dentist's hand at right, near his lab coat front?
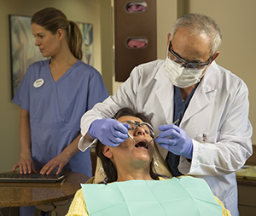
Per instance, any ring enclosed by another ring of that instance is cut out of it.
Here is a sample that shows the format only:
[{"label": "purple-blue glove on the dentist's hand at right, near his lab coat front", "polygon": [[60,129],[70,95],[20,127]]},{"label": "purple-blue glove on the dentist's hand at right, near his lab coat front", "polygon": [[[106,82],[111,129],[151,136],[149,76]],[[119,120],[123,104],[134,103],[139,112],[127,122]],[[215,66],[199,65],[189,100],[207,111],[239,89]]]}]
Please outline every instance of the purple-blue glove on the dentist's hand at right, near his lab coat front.
[{"label": "purple-blue glove on the dentist's hand at right, near his lab coat front", "polygon": [[192,158],[193,142],[182,128],[174,124],[160,125],[158,128],[162,132],[155,142],[174,155]]}]

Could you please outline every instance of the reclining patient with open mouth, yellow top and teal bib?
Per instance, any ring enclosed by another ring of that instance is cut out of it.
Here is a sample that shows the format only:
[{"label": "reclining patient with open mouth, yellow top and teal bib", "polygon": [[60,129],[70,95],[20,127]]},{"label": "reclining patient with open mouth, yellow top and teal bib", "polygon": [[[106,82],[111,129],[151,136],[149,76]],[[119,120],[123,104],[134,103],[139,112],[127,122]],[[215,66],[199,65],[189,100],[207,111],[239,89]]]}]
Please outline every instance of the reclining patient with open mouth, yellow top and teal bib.
[{"label": "reclining patient with open mouth, yellow top and teal bib", "polygon": [[154,132],[146,115],[123,108],[115,119],[130,125],[131,136],[117,147],[97,142],[96,154],[106,177],[102,184],[82,185],[67,216],[230,215],[204,179],[158,172],[166,168],[155,155]]}]

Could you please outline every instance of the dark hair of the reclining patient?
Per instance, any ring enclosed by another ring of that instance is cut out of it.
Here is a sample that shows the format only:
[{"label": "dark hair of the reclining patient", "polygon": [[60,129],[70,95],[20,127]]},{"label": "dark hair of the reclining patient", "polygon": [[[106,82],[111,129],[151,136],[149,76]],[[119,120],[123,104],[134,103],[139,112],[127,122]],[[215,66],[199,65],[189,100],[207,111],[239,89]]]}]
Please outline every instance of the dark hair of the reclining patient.
[{"label": "dark hair of the reclining patient", "polygon": [[[122,108],[120,109],[115,115],[114,118],[119,119],[119,117],[125,117],[125,116],[131,116],[131,117],[138,117],[140,118],[143,122],[148,122],[151,124],[148,116],[142,112],[136,112],[132,111],[130,108]],[[104,156],[102,153],[102,146],[103,144],[98,140],[96,144],[96,155],[99,156],[102,160],[102,167],[107,175],[107,182],[114,182],[117,180],[117,171],[115,166],[113,165],[113,162],[107,157]],[[157,178],[157,174],[153,172],[153,160],[150,163],[150,176],[152,179]]]}]

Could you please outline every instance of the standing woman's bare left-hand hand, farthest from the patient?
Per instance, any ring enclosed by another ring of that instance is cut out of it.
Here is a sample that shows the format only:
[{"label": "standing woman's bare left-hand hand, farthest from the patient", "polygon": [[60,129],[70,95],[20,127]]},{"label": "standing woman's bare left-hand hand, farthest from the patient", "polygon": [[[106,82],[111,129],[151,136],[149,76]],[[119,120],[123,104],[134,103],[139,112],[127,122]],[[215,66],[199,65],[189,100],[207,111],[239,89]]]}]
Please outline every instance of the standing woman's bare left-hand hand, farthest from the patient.
[{"label": "standing woman's bare left-hand hand, farthest from the patient", "polygon": [[20,156],[20,162],[15,164],[13,171],[15,171],[16,168],[20,168],[20,174],[37,173],[34,168],[32,156]]}]

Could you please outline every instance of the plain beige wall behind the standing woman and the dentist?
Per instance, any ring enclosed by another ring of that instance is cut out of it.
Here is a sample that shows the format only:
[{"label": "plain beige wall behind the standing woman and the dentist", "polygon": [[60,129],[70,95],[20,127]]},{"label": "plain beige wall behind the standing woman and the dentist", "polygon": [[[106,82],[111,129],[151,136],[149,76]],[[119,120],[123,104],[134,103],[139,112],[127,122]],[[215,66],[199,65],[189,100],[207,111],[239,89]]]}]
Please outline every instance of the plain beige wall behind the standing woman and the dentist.
[{"label": "plain beige wall behind the standing woman and the dentist", "polygon": [[[11,77],[9,60],[9,14],[32,15],[45,7],[61,9],[69,20],[90,22],[94,25],[95,67],[113,94],[120,83],[113,77],[113,0],[0,0],[0,172],[9,171],[20,158],[19,114],[20,108],[11,103]],[[256,1],[253,0],[157,0],[157,55],[163,59],[166,54],[166,34],[173,22],[188,12],[207,14],[217,20],[223,33],[221,54],[217,59],[224,66],[241,77],[250,91],[250,120],[256,125],[255,94],[253,85],[254,50],[256,50],[255,25]],[[256,144],[256,138],[253,137]]]}]

